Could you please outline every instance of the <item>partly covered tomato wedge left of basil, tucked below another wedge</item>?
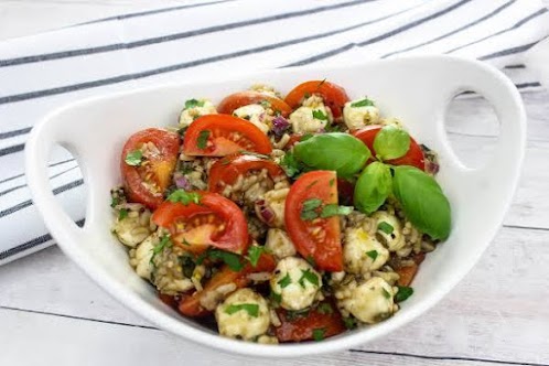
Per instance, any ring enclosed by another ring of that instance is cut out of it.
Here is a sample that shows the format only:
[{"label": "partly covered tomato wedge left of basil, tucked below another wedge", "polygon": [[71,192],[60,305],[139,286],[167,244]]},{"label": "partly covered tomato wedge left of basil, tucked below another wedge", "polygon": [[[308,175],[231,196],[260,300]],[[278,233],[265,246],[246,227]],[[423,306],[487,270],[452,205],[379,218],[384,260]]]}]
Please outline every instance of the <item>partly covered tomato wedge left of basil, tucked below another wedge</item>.
[{"label": "partly covered tomato wedge left of basil, tucked below another wedge", "polygon": [[268,159],[248,154],[223,158],[209,169],[208,190],[220,193],[226,185],[233,185],[239,175],[245,176],[250,171],[260,171],[262,169],[267,169],[273,181],[286,176],[282,168]]}]

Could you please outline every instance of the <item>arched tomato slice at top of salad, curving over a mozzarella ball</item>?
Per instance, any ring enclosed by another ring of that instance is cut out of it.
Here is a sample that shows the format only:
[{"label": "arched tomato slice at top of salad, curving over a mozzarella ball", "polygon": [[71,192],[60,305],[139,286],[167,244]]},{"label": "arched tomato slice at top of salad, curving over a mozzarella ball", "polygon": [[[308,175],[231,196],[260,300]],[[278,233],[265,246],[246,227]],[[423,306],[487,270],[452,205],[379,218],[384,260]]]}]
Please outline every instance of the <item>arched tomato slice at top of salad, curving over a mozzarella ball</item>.
[{"label": "arched tomato slice at top of salad, curving over a mozzarella ball", "polygon": [[324,104],[330,107],[334,118],[340,118],[343,107],[349,100],[347,93],[338,85],[326,80],[310,80],[294,87],[286,96],[286,103],[293,109],[301,106],[306,95],[317,94],[324,99]]}]

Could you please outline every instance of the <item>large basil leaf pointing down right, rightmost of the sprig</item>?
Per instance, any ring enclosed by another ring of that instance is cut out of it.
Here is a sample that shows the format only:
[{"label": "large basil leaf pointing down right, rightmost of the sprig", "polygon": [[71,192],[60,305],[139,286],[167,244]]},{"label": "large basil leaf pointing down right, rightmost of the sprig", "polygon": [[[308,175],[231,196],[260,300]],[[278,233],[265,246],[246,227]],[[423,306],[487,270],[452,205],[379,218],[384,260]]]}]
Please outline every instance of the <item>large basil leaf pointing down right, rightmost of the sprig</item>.
[{"label": "large basil leaf pointing down right, rightmost of the sprig", "polygon": [[423,171],[408,165],[392,168],[392,191],[406,217],[432,239],[450,235],[450,203],[439,183]]}]

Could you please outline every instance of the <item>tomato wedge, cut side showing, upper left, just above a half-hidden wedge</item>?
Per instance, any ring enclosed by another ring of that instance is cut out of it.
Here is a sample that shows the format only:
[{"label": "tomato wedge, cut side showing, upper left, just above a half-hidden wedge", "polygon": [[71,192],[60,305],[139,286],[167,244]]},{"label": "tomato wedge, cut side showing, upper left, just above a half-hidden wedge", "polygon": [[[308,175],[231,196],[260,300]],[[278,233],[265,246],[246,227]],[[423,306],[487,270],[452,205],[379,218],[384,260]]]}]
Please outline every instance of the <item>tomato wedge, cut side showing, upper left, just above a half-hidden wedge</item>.
[{"label": "tomato wedge, cut side showing, upper left, just above a half-hidden wedge", "polygon": [[269,154],[267,134],[251,122],[228,115],[197,118],[185,132],[183,151],[190,157],[225,157],[239,151]]}]

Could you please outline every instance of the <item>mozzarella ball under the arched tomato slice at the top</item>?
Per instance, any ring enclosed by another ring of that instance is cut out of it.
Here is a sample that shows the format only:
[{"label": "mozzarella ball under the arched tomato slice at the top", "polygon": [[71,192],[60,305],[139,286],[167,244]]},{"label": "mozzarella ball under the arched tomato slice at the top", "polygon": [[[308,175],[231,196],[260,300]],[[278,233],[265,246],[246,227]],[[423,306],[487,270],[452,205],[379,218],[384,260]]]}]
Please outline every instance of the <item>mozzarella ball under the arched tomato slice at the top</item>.
[{"label": "mozzarella ball under the arched tomato slice at the top", "polygon": [[317,132],[331,121],[332,112],[324,106],[322,98],[314,95],[305,99],[303,106],[290,115],[290,123],[295,133]]}]

